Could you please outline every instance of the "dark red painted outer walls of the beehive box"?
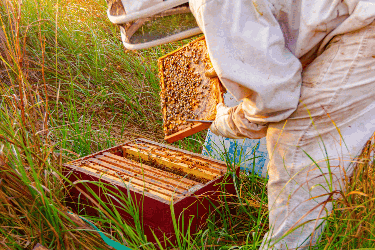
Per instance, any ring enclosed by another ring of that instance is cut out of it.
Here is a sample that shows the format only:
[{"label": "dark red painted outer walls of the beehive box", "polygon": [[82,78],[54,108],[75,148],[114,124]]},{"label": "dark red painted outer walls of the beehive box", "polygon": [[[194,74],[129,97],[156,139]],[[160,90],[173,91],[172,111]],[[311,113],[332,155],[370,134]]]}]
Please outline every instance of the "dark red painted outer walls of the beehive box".
[{"label": "dark red painted outer walls of the beehive box", "polygon": [[[119,148],[122,145],[118,146]],[[162,145],[161,145],[162,146]],[[104,150],[109,151],[112,150],[112,153],[115,153],[113,151],[113,148]],[[184,151],[186,153],[186,151]],[[97,155],[97,154],[95,154]],[[117,155],[120,155],[117,153]],[[201,158],[207,158],[204,156],[200,156]],[[87,158],[87,156],[85,157]],[[211,160],[212,158],[207,158],[207,160]],[[222,162],[225,164],[224,162]],[[68,176],[68,179],[71,182],[75,182],[78,180],[90,180],[90,181],[99,181],[99,178],[93,175],[90,175],[89,172],[79,171],[77,169],[72,169],[68,164],[65,165],[66,169],[64,170],[64,175]],[[192,195],[183,197],[177,201],[174,202],[174,212],[176,216],[176,220],[180,219],[180,228],[184,228],[184,233],[186,232],[189,218],[193,217],[190,232],[195,233],[197,232],[200,225],[205,223],[207,219],[207,215],[210,214],[210,212],[213,210],[212,205],[210,204],[209,200],[213,202],[214,204],[217,204],[217,201],[215,201],[219,195],[218,191],[220,191],[220,185],[215,185],[216,183],[220,183],[223,181],[225,174],[223,174],[221,177],[216,178],[212,181],[209,181],[206,183],[202,188],[195,191]],[[236,169],[236,175],[239,176],[239,168]],[[103,184],[110,184],[109,181],[100,180]],[[231,177],[228,177],[226,179],[226,185],[225,185],[225,192],[230,194],[235,194],[235,188],[233,185],[233,180]],[[103,190],[98,187],[97,185],[93,183],[86,183],[99,197],[102,201],[108,202],[108,198],[103,194]],[[110,187],[109,189],[112,190],[115,193],[122,193],[124,196],[127,197],[127,189],[125,186],[116,185],[118,190],[116,190],[113,187]],[[107,185],[109,187],[109,185]],[[74,212],[81,214],[86,214],[90,216],[98,216],[98,213],[96,212],[96,209],[92,208],[94,206],[92,202],[85,197],[85,195],[81,194],[78,189],[82,189],[87,194],[89,192],[84,188],[84,185],[82,183],[76,184],[76,187],[71,188],[69,191],[69,196],[67,198],[67,202],[71,205]],[[141,214],[141,221],[143,223],[144,228],[144,234],[147,236],[147,240],[149,242],[156,242],[154,239],[151,230],[154,231],[156,236],[160,241],[163,239],[163,234],[165,234],[166,237],[170,237],[173,241],[175,240],[175,232],[173,228],[172,223],[172,216],[170,211],[170,202],[167,202],[166,200],[163,200],[159,197],[152,197],[143,195],[139,192],[135,192],[133,190],[130,190],[130,195],[132,199],[136,200],[137,207],[139,208],[139,212]],[[93,195],[89,194],[89,196],[96,200]],[[78,210],[78,198],[80,199],[80,206]],[[122,219],[124,221],[127,221],[129,224],[134,224],[133,217],[126,212],[125,209],[121,208],[122,205],[119,204],[114,199],[110,199],[115,206],[117,206],[118,213],[122,216]],[[91,207],[90,207],[91,206]],[[84,211],[82,211],[82,208],[84,207]],[[184,223],[182,224],[182,218]],[[173,242],[172,241],[172,242]]]}]

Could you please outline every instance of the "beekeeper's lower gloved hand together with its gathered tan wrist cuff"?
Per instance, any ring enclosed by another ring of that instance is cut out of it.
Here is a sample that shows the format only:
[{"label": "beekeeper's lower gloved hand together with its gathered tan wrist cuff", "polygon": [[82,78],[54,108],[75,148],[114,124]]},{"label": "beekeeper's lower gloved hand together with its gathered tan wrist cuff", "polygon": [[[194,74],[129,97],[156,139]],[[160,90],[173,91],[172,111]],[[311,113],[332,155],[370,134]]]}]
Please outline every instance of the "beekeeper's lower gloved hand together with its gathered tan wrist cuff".
[{"label": "beekeeper's lower gloved hand together with its gathered tan wrist cuff", "polygon": [[211,131],[231,139],[260,139],[267,134],[267,124],[255,124],[245,118],[241,105],[226,107],[223,103],[216,106],[216,118],[209,127]]}]

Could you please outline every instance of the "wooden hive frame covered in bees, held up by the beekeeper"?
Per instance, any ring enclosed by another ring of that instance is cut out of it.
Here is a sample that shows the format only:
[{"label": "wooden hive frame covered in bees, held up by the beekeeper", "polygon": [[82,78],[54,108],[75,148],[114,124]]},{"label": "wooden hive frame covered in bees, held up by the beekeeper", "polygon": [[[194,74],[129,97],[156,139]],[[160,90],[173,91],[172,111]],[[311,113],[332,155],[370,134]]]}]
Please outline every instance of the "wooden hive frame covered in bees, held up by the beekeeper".
[{"label": "wooden hive frame covered in bees, held up by the beekeeper", "polygon": [[160,102],[165,140],[169,143],[207,129],[214,120],[216,105],[223,102],[218,77],[208,78],[212,68],[204,36],[159,58]]}]

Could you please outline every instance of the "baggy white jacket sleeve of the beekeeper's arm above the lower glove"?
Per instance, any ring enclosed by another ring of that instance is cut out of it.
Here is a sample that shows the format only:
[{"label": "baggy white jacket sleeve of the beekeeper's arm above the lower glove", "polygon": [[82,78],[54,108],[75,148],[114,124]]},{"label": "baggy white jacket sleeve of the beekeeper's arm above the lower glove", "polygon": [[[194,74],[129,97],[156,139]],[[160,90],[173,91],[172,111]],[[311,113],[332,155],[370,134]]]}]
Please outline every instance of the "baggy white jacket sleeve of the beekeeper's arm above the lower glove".
[{"label": "baggy white jacket sleeve of the beekeeper's arm above the lower glove", "polygon": [[255,124],[289,117],[298,105],[302,66],[285,48],[272,5],[265,0],[189,3],[217,75],[237,100],[243,100],[235,112]]}]

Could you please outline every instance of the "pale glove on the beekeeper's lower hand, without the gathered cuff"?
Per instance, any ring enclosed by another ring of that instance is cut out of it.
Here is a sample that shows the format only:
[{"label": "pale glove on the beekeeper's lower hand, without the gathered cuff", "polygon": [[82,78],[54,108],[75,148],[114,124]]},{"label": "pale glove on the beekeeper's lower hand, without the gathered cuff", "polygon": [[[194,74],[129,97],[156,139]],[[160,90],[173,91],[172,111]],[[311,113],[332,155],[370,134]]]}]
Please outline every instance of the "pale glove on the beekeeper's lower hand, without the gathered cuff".
[{"label": "pale glove on the beekeeper's lower hand, without the gathered cuff", "polygon": [[211,131],[219,136],[231,139],[244,139],[246,137],[237,136],[228,125],[230,107],[226,107],[223,103],[216,106],[216,118],[209,127]]}]

